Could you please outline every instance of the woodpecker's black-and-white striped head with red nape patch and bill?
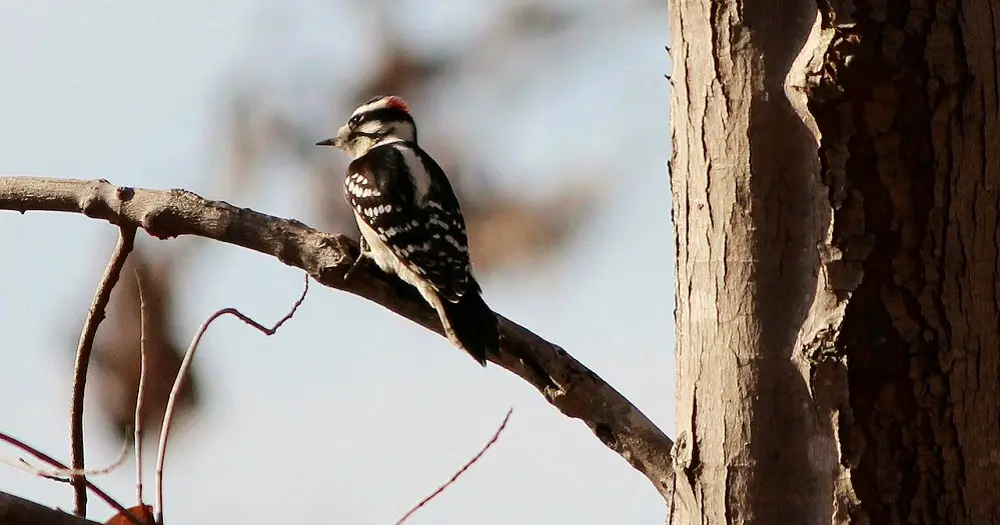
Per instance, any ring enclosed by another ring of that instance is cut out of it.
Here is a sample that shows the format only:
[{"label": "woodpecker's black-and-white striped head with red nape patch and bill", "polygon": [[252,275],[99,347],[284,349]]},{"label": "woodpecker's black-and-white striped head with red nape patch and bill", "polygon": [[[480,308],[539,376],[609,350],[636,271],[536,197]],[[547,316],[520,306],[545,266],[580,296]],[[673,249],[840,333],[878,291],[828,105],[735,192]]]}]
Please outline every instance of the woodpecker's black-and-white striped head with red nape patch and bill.
[{"label": "woodpecker's black-and-white striped head with red nape patch and bill", "polygon": [[379,95],[358,106],[336,137],[316,145],[335,146],[357,158],[377,145],[395,141],[416,142],[417,125],[403,99]]}]

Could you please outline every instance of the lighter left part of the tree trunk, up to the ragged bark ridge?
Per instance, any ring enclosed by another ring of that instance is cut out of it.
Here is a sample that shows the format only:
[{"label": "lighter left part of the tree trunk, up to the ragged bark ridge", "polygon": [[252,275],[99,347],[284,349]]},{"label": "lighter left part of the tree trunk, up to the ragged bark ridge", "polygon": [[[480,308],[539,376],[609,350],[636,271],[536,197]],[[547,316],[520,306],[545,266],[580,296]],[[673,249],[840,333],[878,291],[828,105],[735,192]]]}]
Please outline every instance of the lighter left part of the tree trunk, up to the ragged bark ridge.
[{"label": "lighter left part of the tree trunk, up to the ragged bark ridge", "polygon": [[671,5],[675,468],[698,502],[673,523],[820,523],[836,457],[796,341],[829,212],[784,90],[815,5]]}]

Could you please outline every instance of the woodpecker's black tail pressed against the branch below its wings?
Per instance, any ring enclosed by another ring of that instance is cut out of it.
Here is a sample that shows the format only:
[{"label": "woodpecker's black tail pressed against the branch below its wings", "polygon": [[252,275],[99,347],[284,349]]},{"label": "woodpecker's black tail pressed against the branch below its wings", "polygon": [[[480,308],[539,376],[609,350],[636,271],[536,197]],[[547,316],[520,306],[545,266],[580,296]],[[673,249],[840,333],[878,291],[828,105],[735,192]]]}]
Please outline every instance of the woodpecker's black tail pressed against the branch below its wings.
[{"label": "woodpecker's black tail pressed against the branch below its wings", "polygon": [[440,305],[438,313],[448,340],[486,366],[486,356],[500,351],[500,332],[496,314],[479,291],[469,290],[457,303],[442,298]]}]

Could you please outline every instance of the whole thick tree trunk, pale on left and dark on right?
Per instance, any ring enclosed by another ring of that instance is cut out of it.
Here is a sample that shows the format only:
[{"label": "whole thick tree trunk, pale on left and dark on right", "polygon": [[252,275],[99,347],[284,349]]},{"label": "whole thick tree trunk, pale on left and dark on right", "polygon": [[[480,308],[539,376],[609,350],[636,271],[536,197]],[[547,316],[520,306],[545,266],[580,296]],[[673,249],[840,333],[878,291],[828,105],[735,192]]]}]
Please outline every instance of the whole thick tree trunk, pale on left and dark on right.
[{"label": "whole thick tree trunk, pale on left and dark on right", "polygon": [[672,523],[1000,523],[1000,8],[671,2]]}]

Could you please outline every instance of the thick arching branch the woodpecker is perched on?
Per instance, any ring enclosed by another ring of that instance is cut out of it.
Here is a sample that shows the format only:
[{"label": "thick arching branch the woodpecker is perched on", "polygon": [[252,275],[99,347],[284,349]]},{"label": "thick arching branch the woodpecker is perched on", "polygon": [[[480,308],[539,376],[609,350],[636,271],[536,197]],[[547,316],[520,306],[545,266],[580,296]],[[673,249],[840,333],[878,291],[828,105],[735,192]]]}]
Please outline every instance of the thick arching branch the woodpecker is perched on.
[{"label": "thick arching branch the woodpecker is perched on", "polygon": [[[83,213],[134,226],[168,239],[194,235],[242,246],[302,268],[317,282],[364,297],[441,334],[441,324],[412,287],[367,265],[344,282],[357,244],[344,235],[312,229],[180,189],[116,187],[105,180],[0,177],[0,209]],[[587,424],[598,439],[643,473],[670,501],[673,443],[642,412],[565,350],[500,317],[500,355],[494,363],[535,386],[568,417]],[[531,364],[525,364],[531,361]],[[544,373],[544,377],[539,373]]]}]

